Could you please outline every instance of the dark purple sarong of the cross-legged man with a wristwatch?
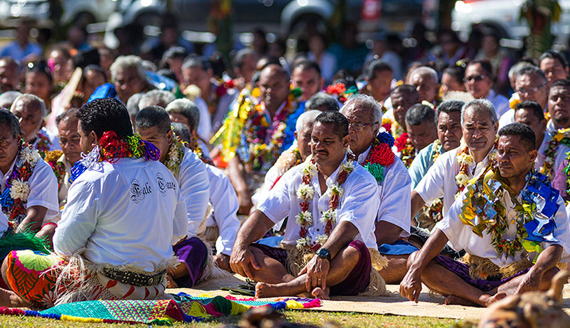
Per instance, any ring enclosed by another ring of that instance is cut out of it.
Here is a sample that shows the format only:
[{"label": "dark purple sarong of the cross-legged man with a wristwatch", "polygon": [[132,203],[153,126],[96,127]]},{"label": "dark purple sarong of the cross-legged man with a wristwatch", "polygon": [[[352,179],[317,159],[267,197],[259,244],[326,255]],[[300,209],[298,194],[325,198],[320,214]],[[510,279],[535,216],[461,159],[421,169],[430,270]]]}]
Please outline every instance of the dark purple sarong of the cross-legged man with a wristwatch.
[{"label": "dark purple sarong of the cross-legged man with a wristwatch", "polygon": [[[251,246],[257,247],[260,251],[263,251],[265,255],[269,256],[269,258],[277,260],[283,264],[283,267],[287,268],[287,251],[285,251],[285,249],[270,247],[264,244],[251,244]],[[372,260],[370,260],[368,248],[360,240],[353,240],[348,246],[354,247],[359,251],[359,261],[354,268],[352,268],[352,271],[350,271],[345,280],[330,287],[330,295],[357,295],[365,291],[368,284],[370,284]]]}]

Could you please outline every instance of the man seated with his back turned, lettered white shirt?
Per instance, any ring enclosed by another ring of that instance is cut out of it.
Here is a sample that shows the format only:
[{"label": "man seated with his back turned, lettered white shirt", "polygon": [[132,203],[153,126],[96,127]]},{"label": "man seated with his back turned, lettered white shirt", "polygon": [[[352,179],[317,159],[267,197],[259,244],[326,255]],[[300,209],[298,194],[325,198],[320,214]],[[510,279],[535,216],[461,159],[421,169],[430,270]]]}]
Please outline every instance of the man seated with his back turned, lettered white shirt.
[{"label": "man seated with his back turned, lettered white shirt", "polygon": [[95,99],[77,117],[82,151],[91,153],[72,170],[54,253],[12,251],[2,277],[18,306],[164,298],[172,244],[188,228],[178,182],[158,149],[133,135],[117,99]]}]

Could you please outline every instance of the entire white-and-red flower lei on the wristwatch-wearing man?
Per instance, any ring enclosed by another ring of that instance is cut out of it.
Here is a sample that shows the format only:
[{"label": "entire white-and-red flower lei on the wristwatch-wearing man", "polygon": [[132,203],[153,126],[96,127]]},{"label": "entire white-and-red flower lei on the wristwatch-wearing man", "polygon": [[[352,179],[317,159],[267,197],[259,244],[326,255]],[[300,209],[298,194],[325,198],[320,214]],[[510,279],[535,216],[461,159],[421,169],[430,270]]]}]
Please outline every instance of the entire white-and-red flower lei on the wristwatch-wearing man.
[{"label": "entire white-and-red flower lei on the wristwatch-wearing man", "polygon": [[336,208],[339,206],[339,200],[344,193],[343,184],[353,170],[354,161],[350,157],[341,163],[339,175],[336,177],[336,183],[330,185],[325,193],[325,195],[330,196],[329,209],[321,212],[321,218],[319,219],[325,226],[325,233],[317,236],[313,242],[310,235],[308,235],[307,229],[308,226],[313,225],[313,215],[309,210],[309,202],[313,199],[315,192],[313,186],[311,186],[311,180],[319,174],[319,171],[316,168],[312,156],[307,157],[307,160],[303,163],[303,168],[301,168],[303,179],[296,192],[297,198],[301,202],[301,212],[295,215],[295,222],[301,227],[299,230],[299,237],[301,238],[296,240],[296,247],[299,251],[306,249],[314,253],[325,244],[332,231],[333,225],[336,224]]}]

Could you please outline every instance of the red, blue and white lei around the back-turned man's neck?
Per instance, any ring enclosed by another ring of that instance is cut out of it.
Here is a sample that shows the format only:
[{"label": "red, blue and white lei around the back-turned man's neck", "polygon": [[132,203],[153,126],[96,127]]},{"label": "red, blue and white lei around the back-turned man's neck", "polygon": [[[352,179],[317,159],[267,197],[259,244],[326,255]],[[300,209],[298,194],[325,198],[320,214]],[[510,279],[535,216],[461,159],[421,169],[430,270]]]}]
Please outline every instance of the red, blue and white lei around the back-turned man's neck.
[{"label": "red, blue and white lei around the back-turned man's neck", "polygon": [[160,150],[151,142],[143,140],[138,133],[119,139],[114,131],[106,131],[99,139],[99,145],[88,154],[83,153],[82,157],[82,160],[77,161],[71,168],[70,183],[99,162],[116,163],[126,157],[158,161]]}]

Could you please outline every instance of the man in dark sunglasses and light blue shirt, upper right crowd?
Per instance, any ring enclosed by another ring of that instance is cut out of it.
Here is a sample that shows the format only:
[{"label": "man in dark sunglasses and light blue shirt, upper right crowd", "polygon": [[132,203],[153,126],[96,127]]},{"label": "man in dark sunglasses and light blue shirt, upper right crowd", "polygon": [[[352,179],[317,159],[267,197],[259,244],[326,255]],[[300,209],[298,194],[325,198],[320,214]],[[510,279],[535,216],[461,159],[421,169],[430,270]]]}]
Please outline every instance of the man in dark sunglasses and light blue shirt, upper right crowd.
[{"label": "man in dark sunglasses and light blue shirt, upper right crowd", "polygon": [[463,79],[465,88],[475,99],[487,99],[495,107],[497,117],[509,110],[509,99],[493,90],[493,67],[486,60],[473,60],[467,64]]}]

